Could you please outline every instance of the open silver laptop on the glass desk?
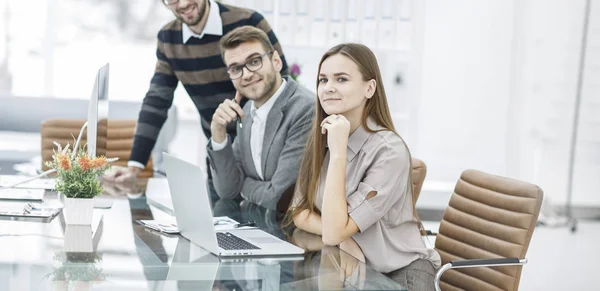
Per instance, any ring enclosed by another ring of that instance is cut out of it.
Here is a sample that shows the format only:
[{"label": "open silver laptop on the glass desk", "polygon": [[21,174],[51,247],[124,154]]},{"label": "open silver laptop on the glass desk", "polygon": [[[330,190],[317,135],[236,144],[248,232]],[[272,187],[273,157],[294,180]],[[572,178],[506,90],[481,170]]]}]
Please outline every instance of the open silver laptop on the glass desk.
[{"label": "open silver laptop on the glass desk", "polygon": [[216,256],[301,255],[304,250],[260,229],[216,231],[204,171],[163,153],[181,235]]}]

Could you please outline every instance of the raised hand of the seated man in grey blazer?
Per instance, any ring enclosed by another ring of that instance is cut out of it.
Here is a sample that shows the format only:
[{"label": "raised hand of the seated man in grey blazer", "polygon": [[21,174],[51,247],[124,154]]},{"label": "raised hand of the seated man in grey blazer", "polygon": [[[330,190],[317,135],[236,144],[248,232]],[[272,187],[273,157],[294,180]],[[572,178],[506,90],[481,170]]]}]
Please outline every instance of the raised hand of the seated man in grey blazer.
[{"label": "raised hand of the seated man in grey blazer", "polygon": [[210,131],[212,139],[217,143],[223,143],[227,138],[227,125],[231,122],[238,122],[240,127],[242,122],[240,118],[244,118],[244,110],[240,106],[242,95],[239,92],[235,93],[233,99],[227,99],[219,105],[215,114],[213,114],[212,122],[210,123]]}]

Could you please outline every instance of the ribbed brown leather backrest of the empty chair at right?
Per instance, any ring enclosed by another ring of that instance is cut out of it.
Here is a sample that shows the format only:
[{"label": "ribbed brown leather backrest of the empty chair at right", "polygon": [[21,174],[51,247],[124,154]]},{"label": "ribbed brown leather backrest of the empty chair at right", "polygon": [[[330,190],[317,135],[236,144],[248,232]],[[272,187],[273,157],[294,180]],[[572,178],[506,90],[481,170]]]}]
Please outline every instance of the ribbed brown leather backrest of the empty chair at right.
[{"label": "ribbed brown leather backrest of the empty chair at right", "polygon": [[[460,259],[525,258],[543,192],[538,186],[464,171],[440,224],[435,249],[442,264]],[[448,270],[442,290],[518,290],[522,266]]]}]

